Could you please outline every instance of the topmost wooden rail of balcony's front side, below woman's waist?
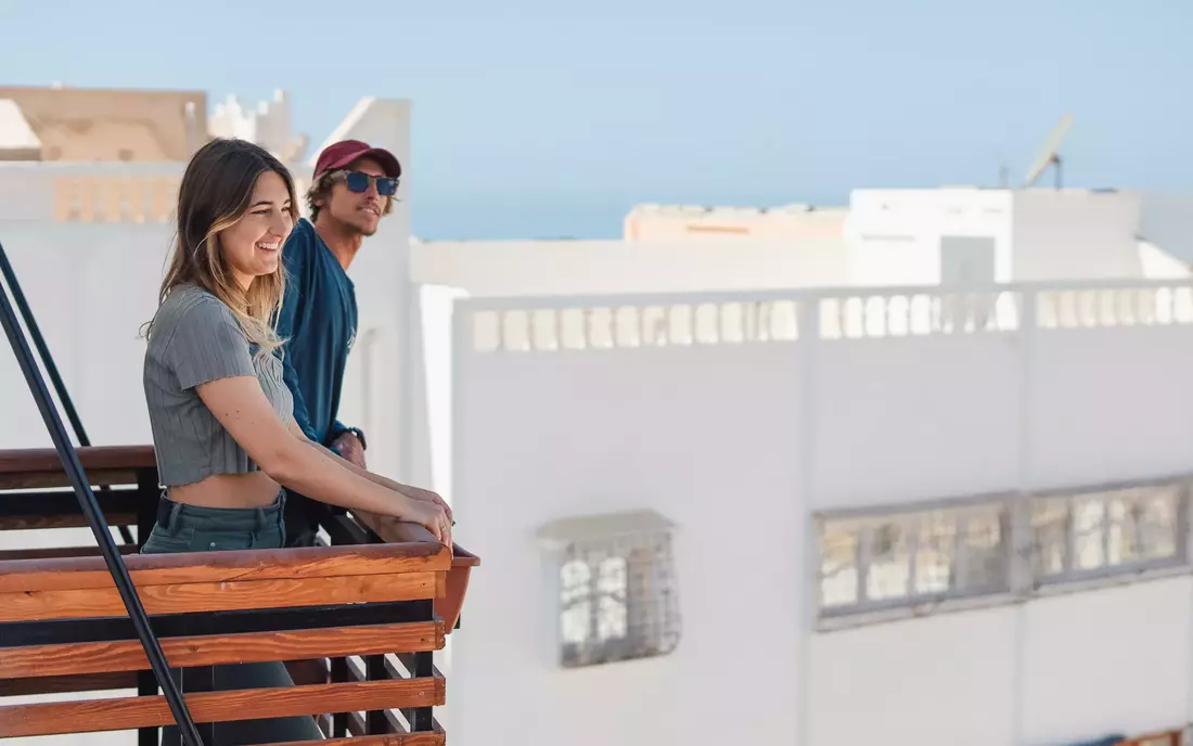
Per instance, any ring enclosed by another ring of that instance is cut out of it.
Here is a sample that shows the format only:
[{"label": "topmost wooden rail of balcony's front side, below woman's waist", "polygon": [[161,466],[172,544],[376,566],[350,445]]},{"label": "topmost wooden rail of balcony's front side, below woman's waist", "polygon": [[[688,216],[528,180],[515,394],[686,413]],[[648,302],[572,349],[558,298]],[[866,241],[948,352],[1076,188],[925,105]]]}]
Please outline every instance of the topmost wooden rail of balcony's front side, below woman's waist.
[{"label": "topmost wooden rail of balcony's front side, below woman's waist", "polygon": [[[137,554],[125,557],[124,563],[138,588],[190,582],[418,573],[451,567],[447,550],[433,542]],[[0,567],[0,593],[115,587],[100,556],[14,560]]]}]

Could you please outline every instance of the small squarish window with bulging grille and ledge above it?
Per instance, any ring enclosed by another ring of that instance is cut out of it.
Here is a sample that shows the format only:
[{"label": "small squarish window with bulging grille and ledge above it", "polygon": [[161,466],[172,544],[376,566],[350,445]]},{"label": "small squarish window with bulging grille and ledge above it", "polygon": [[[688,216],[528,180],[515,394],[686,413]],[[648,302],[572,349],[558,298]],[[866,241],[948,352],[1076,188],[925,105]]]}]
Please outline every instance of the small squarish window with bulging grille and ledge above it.
[{"label": "small squarish window with bulging grille and ledge above it", "polygon": [[675,649],[680,623],[672,528],[647,511],[570,518],[539,531],[557,572],[560,665]]}]

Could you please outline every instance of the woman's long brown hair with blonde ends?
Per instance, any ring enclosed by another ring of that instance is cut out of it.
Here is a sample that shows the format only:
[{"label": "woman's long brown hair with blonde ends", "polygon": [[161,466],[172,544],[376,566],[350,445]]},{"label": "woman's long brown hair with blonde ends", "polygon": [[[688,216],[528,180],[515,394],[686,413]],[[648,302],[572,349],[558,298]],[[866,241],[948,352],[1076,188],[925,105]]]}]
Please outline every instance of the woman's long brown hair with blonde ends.
[{"label": "woman's long brown hair with blonde ends", "polygon": [[[258,178],[270,171],[285,181],[290,216],[297,221],[293,178],[264,148],[243,140],[216,138],[194,153],[178,190],[178,236],[157,294],[160,306],[180,284],[203,288],[231,309],[260,354],[272,353],[283,341],[276,322],[285,292],[285,270],[279,263],[274,272],[254,277],[248,290],[242,289],[220,251],[220,232],[248,211]],[[146,325],[144,333],[152,329],[153,321]]]}]

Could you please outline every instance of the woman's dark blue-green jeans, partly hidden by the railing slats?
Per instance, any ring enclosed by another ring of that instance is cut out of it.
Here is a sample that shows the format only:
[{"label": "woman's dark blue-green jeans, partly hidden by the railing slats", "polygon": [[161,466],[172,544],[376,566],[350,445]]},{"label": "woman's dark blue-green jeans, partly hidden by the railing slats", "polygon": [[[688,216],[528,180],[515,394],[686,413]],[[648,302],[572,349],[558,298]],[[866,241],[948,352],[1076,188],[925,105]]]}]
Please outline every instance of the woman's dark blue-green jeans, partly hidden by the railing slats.
[{"label": "woman's dark blue-green jeans, partly hidden by the railing slats", "polygon": [[[157,523],[146,540],[142,554],[183,551],[228,551],[235,549],[280,549],[285,547],[285,493],[265,507],[196,507],[173,503],[165,497],[157,505]],[[214,689],[261,689],[293,686],[293,680],[280,661],[264,664],[229,664],[214,667]],[[184,689],[186,671],[172,668],[171,676]],[[277,744],[309,741],[323,738],[315,719],[309,715],[239,720],[216,723],[220,746],[247,744]],[[162,746],[181,744],[177,726],[162,728]]]}]

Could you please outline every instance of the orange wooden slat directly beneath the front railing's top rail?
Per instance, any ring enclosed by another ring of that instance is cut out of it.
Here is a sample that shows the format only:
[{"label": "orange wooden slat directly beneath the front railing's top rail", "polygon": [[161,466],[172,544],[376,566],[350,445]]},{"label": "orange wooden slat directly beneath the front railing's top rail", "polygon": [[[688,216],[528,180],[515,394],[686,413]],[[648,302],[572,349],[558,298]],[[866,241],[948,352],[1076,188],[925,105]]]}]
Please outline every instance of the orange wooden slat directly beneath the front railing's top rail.
[{"label": "orange wooden slat directly beneath the front railing's top rail", "polygon": [[[147,614],[233,611],[418,600],[435,597],[441,573],[398,573],[339,578],[231,580],[138,587]],[[0,622],[126,616],[113,588],[0,593]]]}]

